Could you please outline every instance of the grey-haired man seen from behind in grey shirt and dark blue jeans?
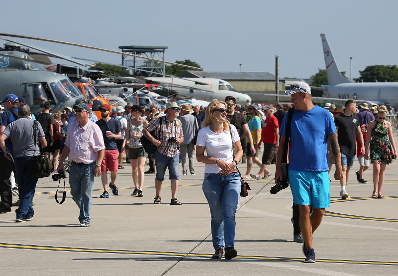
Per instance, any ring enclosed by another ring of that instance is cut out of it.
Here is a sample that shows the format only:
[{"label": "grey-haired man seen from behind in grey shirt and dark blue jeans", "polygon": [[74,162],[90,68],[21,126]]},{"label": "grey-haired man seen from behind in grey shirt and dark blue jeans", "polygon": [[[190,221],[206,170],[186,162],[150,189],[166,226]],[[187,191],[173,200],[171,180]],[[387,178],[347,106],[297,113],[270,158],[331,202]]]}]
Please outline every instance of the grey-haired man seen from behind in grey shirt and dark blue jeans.
[{"label": "grey-haired man seen from behind in grey shirt and dark blue jeans", "polygon": [[[34,143],[33,121],[30,119],[30,108],[28,105],[21,105],[18,109],[18,119],[10,123],[0,135],[0,147],[4,155],[10,161],[8,148],[5,146],[5,139],[10,138],[13,145],[13,159],[15,161],[15,176],[18,181],[19,199],[21,204],[15,210],[15,222],[25,222],[32,220],[34,211],[32,199],[36,189],[38,177],[29,177],[29,159],[39,154],[38,144]],[[37,124],[36,140],[40,141],[41,147],[47,145],[47,141],[40,123]],[[1,153],[2,154],[2,153]]]}]

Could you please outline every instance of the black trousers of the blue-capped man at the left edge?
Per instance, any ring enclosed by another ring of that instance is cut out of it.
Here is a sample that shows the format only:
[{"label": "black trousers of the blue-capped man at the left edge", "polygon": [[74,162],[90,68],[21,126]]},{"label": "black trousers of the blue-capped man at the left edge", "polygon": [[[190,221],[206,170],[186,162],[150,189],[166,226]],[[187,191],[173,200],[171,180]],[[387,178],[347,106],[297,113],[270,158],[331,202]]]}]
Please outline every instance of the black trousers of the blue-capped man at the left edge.
[{"label": "black trousers of the blue-capped man at the left edge", "polygon": [[12,193],[11,193],[11,182],[9,177],[14,167],[12,161],[5,158],[4,153],[0,152],[0,198],[1,205],[0,209],[10,210],[12,205]]}]

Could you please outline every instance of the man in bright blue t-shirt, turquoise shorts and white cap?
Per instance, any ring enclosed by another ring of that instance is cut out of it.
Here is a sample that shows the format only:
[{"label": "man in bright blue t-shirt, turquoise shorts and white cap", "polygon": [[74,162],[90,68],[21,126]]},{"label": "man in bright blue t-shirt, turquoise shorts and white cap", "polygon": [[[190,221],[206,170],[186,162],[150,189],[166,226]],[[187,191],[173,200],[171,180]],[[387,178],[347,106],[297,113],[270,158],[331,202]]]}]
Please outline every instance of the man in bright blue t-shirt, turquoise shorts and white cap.
[{"label": "man in bright blue t-shirt, turquoise shorts and white cap", "polygon": [[[312,233],[322,221],[325,208],[330,206],[330,180],[328,175],[327,142],[332,147],[336,172],[334,178],[343,177],[340,148],[336,127],[330,112],[312,104],[311,89],[305,82],[291,85],[285,91],[295,105],[291,123],[291,148],[289,150],[289,180],[295,204],[299,205],[300,229],[304,239],[304,263],[315,263]],[[278,148],[275,183],[282,179],[282,155],[288,116],[282,123]],[[312,214],[310,216],[310,207]]]}]

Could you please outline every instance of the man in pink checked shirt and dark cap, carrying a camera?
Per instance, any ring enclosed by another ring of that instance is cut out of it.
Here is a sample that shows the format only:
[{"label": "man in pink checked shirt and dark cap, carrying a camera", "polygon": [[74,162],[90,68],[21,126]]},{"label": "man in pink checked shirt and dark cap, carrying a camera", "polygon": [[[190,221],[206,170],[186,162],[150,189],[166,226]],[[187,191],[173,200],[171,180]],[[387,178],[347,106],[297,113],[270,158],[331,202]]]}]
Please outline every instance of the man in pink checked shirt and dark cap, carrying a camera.
[{"label": "man in pink checked shirt and dark cap, carrying a camera", "polygon": [[69,169],[71,195],[80,209],[80,227],[89,227],[94,176],[101,176],[105,145],[100,127],[89,120],[90,107],[78,104],[73,108],[77,121],[68,126],[58,172],[64,169],[63,163],[69,155],[69,160],[72,161]]}]

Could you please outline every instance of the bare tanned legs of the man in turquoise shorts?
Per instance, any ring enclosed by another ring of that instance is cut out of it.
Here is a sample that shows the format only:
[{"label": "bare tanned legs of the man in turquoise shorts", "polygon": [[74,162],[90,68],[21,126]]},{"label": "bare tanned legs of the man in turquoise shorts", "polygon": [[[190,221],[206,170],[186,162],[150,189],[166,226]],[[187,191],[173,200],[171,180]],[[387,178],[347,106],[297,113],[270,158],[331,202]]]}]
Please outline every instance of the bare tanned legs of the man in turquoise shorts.
[{"label": "bare tanned legs of the man in turquoise shorts", "polygon": [[312,234],[319,227],[323,213],[325,209],[312,208],[312,214],[310,215],[309,205],[298,205],[300,210],[300,229],[301,235],[304,239],[306,250],[312,247]]}]

